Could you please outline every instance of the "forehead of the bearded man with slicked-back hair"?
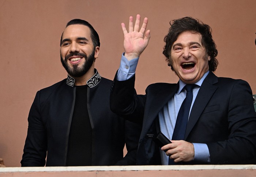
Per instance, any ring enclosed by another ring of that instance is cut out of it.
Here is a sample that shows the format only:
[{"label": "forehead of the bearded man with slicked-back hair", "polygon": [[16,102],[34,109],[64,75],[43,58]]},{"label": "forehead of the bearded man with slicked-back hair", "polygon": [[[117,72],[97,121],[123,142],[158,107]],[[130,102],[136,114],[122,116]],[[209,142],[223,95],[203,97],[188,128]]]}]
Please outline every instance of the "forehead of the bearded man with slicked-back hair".
[{"label": "forehead of the bearded man with slicked-back hair", "polygon": [[63,32],[63,39],[72,39],[78,37],[85,37],[90,39],[90,28],[82,24],[72,24],[65,28]]}]

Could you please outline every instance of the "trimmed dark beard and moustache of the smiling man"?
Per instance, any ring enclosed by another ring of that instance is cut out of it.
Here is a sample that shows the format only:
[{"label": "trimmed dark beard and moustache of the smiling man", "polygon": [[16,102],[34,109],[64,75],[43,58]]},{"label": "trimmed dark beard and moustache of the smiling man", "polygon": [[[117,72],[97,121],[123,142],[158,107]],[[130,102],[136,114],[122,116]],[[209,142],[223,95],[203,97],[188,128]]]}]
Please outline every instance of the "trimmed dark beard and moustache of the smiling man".
[{"label": "trimmed dark beard and moustache of the smiling man", "polygon": [[[73,65],[73,68],[68,65],[68,58],[72,57],[74,55],[81,56],[81,57],[85,58],[85,62],[82,65],[82,67],[78,68],[78,64]],[[69,76],[81,77],[85,73],[87,73],[87,71],[93,65],[93,62],[94,62],[94,51],[89,55],[89,57],[87,57],[87,55],[83,54],[83,53],[72,53],[72,54],[67,55],[65,57],[65,60],[63,60],[61,55],[60,55],[60,61],[61,61],[61,64],[63,65],[63,67],[65,68],[65,70],[67,71],[67,73],[69,74]]]}]

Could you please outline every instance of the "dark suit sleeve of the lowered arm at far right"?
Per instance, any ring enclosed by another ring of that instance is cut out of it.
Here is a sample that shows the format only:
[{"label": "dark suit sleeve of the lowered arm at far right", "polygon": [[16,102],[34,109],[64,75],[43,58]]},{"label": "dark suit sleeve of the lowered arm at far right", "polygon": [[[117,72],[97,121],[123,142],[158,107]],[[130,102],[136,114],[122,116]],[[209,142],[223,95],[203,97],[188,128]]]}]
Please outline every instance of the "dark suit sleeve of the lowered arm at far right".
[{"label": "dark suit sleeve of the lowered arm at far right", "polygon": [[256,116],[249,84],[237,80],[230,93],[227,140],[207,143],[212,164],[256,163]]}]

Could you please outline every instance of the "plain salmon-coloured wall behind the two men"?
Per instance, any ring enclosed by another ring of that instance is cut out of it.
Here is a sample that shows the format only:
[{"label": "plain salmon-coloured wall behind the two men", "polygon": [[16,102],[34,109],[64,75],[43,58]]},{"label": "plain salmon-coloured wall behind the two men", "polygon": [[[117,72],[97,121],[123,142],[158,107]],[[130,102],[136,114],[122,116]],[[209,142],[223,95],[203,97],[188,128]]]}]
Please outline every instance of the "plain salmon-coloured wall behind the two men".
[{"label": "plain salmon-coloured wall behind the two men", "polygon": [[212,27],[219,51],[217,76],[241,78],[256,93],[255,0],[0,0],[0,158],[20,166],[27,115],[35,93],[67,76],[60,63],[60,36],[74,18],[89,21],[101,40],[96,68],[112,79],[123,52],[121,23],[140,14],[151,39],[140,57],[136,89],[177,82],[162,54],[169,21],[192,16]]}]

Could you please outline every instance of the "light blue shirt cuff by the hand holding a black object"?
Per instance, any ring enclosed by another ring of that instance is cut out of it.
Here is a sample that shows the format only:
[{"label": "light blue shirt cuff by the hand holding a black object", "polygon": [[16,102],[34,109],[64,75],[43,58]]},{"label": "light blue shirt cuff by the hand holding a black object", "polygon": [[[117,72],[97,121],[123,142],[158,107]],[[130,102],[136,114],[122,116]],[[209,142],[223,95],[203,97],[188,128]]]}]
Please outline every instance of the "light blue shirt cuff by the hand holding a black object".
[{"label": "light blue shirt cuff by the hand holding a black object", "polygon": [[194,161],[210,162],[210,153],[208,146],[203,143],[192,143],[195,150]]}]

